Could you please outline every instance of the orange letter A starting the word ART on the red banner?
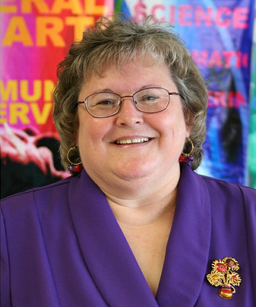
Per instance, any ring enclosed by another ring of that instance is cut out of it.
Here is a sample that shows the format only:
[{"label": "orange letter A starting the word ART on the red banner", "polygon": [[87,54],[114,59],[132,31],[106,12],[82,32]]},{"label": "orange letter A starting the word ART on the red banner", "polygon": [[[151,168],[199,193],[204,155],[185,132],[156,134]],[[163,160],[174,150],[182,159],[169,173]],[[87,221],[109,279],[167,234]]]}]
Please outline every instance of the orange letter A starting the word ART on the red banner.
[{"label": "orange letter A starting the word ART on the red banner", "polygon": [[33,45],[25,20],[21,16],[11,18],[3,40],[3,46],[11,46],[14,41],[20,41],[24,46]]}]

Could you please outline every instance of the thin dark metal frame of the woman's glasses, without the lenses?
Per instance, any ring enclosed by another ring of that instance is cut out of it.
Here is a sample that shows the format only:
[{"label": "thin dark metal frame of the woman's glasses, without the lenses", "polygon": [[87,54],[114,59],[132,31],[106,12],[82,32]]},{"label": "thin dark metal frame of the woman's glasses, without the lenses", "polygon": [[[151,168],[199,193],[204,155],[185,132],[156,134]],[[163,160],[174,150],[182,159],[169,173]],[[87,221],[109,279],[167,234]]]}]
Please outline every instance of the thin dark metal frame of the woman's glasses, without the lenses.
[{"label": "thin dark metal frame of the woman's glasses, without the lenses", "polygon": [[[141,110],[138,108],[138,106],[137,106],[137,104],[136,104],[136,101],[134,100],[134,95],[136,95],[137,93],[139,93],[139,92],[141,92],[141,91],[143,91],[143,90],[150,90],[150,89],[161,89],[161,90],[164,90],[164,91],[166,91],[166,92],[168,93],[168,95],[169,95],[169,96],[168,96],[168,102],[167,102],[165,108],[163,108],[161,111],[147,112],[147,111],[141,111]],[[87,100],[88,100],[88,98],[90,98],[91,96],[97,95],[97,94],[114,94],[114,95],[120,97],[119,108],[117,109],[117,111],[114,112],[114,113],[111,114],[111,115],[104,115],[104,116],[96,116],[96,115],[93,115],[93,114],[89,111],[89,109],[88,109]],[[163,112],[163,111],[168,107],[168,105],[169,105],[169,103],[170,103],[170,95],[177,95],[177,96],[180,96],[180,97],[184,100],[183,96],[182,96],[180,93],[178,93],[178,92],[169,92],[168,90],[164,89],[164,87],[152,86],[152,87],[146,87],[145,89],[139,90],[139,91],[135,92],[133,95],[125,95],[125,96],[121,96],[121,95],[119,95],[119,94],[116,94],[116,93],[113,93],[113,92],[106,92],[106,91],[105,91],[105,92],[94,93],[94,94],[91,94],[91,95],[87,96],[83,101],[78,101],[78,102],[77,102],[77,105],[78,105],[78,104],[81,104],[81,103],[84,103],[84,105],[86,106],[87,112],[88,112],[92,117],[95,117],[95,118],[107,118],[107,117],[114,116],[114,115],[116,115],[118,112],[120,112],[120,110],[121,110],[121,108],[122,108],[122,102],[123,102],[122,99],[123,99],[123,98],[129,98],[129,97],[130,97],[130,98],[132,98],[132,100],[133,100],[133,104],[134,104],[135,108],[136,108],[139,112],[148,113],[148,114],[154,114],[154,113]]]}]

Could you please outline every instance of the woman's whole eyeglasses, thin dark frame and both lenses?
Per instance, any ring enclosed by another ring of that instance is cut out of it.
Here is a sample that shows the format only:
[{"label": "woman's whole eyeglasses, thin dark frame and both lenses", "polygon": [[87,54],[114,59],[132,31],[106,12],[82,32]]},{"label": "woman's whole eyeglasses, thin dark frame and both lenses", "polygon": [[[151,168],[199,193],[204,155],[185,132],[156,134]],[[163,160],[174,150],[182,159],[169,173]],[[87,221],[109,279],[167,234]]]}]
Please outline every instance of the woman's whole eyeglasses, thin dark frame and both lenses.
[{"label": "woman's whole eyeglasses, thin dark frame and both lenses", "polygon": [[97,118],[110,117],[117,114],[122,106],[122,99],[131,97],[134,106],[140,112],[144,113],[158,113],[166,109],[170,102],[170,96],[179,95],[176,92],[168,92],[162,87],[148,87],[147,89],[140,90],[132,96],[120,96],[111,92],[100,92],[89,95],[84,101],[88,113]]}]

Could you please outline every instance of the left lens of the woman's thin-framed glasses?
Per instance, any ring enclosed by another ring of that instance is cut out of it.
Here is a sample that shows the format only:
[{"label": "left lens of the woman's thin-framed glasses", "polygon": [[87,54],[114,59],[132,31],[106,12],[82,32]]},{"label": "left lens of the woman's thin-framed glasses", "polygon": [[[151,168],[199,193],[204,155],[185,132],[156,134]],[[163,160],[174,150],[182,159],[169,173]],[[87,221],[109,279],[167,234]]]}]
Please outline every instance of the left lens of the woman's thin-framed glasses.
[{"label": "left lens of the woman's thin-framed glasses", "polygon": [[87,98],[87,109],[91,115],[106,117],[118,112],[120,97],[112,93],[98,93]]}]

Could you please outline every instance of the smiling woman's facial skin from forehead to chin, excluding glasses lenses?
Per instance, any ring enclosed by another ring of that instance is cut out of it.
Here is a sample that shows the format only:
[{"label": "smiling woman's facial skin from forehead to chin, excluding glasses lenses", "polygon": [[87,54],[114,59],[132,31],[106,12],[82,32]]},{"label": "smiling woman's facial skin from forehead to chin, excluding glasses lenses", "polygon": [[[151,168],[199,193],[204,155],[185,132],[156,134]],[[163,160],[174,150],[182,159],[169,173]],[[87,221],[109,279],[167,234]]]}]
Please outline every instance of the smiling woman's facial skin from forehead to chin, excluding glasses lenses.
[{"label": "smiling woman's facial skin from forehead to chin, excluding glasses lenses", "polygon": [[[135,60],[119,70],[113,65],[101,76],[92,75],[83,85],[79,101],[95,92],[112,91],[125,96],[152,86],[178,92],[166,64]],[[178,160],[190,129],[185,124],[180,97],[170,98],[168,107],[154,114],[138,111],[131,98],[124,98],[120,112],[108,118],[94,118],[83,104],[79,105],[77,145],[84,168],[102,190],[121,183],[156,188],[179,176]],[[150,140],[116,143],[141,138]]]}]

